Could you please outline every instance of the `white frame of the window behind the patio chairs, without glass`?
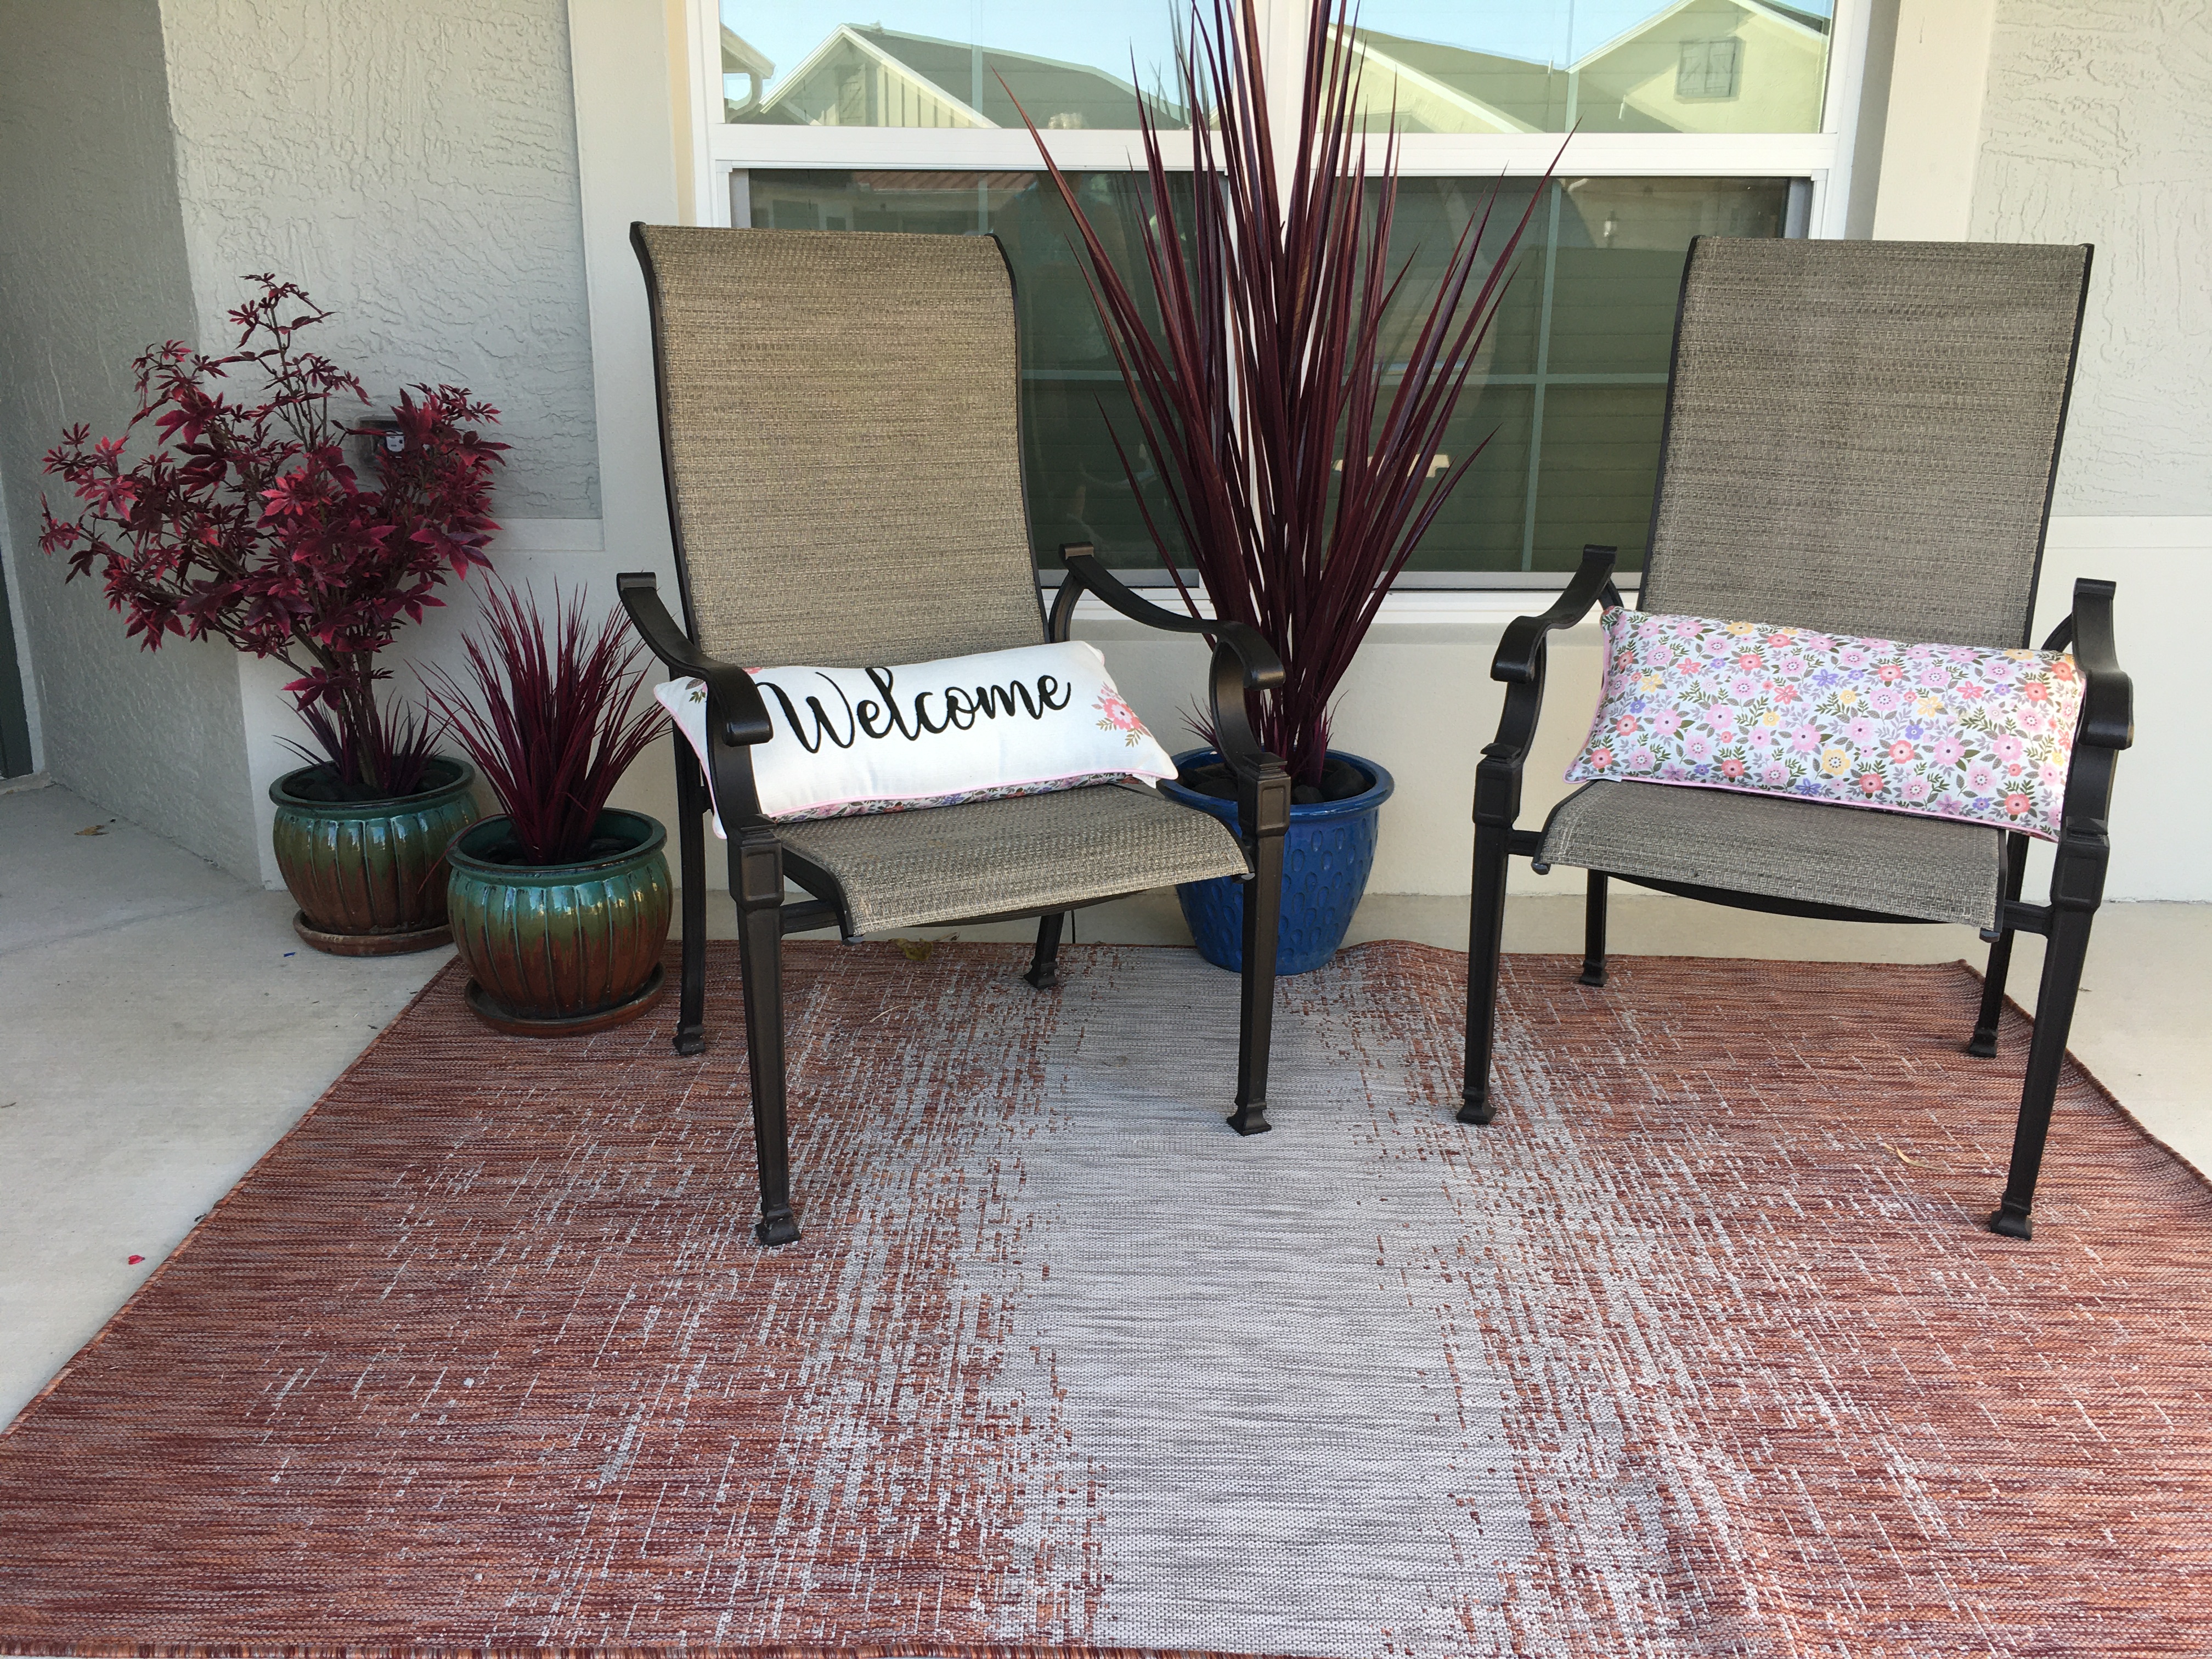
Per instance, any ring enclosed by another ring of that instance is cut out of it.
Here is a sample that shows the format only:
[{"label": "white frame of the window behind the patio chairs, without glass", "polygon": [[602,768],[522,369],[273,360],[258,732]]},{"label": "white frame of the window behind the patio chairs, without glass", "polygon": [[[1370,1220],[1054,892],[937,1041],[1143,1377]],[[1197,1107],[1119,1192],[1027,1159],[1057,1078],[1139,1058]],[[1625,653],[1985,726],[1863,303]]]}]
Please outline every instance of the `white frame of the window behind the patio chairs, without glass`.
[{"label": "white frame of the window behind the patio chairs, without glass", "polygon": [[[1836,0],[1829,22],[1829,71],[1818,133],[1407,133],[1398,139],[1400,177],[1630,177],[1630,179],[1805,179],[1792,192],[1787,234],[1843,237],[1851,201],[1851,153],[1867,64],[1867,31],[1876,0]],[[1298,119],[1303,58],[1303,0],[1256,0],[1265,49],[1270,115],[1279,133]],[[752,168],[867,168],[1026,173],[1037,168],[1037,146],[1026,131],[914,128],[914,126],[748,126],[719,119],[721,4],[686,0],[686,46],[692,69],[695,223],[745,226],[739,195]],[[1066,170],[1130,173],[1144,168],[1137,133],[1055,131],[1046,137]],[[1566,146],[1562,155],[1562,144]],[[1190,168],[1190,135],[1161,133],[1170,170]],[[1287,157],[1283,157],[1287,164]],[[737,208],[737,212],[732,212]],[[1533,513],[1533,502],[1531,502]],[[1166,580],[1166,577],[1161,577]],[[1626,577],[1632,582],[1635,577]],[[1418,588],[1458,591],[1420,599],[1460,606],[1484,588],[1562,586],[1564,573],[1433,571],[1398,580],[1389,606],[1402,608]],[[1458,613],[1453,613],[1458,615]],[[1402,617],[1398,617],[1402,619]]]}]

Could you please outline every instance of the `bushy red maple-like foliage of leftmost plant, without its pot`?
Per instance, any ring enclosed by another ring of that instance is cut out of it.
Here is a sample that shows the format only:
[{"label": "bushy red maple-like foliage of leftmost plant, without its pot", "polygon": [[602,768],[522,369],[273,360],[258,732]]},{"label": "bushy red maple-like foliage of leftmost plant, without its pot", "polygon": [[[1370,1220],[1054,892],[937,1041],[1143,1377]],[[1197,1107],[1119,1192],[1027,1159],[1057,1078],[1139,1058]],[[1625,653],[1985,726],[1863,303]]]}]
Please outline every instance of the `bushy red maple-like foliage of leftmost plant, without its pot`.
[{"label": "bushy red maple-like foliage of leftmost plant, without its pot", "polygon": [[[46,453],[46,471],[84,507],[55,518],[40,500],[40,549],[69,555],[71,582],[97,566],[108,606],[131,617],[126,633],[146,650],[173,635],[215,635],[285,664],[299,675],[285,690],[341,790],[414,794],[436,726],[378,703],[389,670],[376,655],[403,619],[442,604],[436,588],[449,575],[487,564],[498,531],[487,515],[491,465],[507,445],[471,422],[500,411],[460,387],[422,385],[420,400],[403,392],[392,411],[400,447],[387,445],[376,482],[363,484],[332,400],[369,398],[299,343],[330,312],[294,283],[248,281],[261,296],[230,312],[237,349],[210,358],[179,341],[148,347],[124,436],[93,440],[77,425]],[[261,385],[232,398],[221,383],[246,369]],[[157,436],[126,465],[146,422]]]}]

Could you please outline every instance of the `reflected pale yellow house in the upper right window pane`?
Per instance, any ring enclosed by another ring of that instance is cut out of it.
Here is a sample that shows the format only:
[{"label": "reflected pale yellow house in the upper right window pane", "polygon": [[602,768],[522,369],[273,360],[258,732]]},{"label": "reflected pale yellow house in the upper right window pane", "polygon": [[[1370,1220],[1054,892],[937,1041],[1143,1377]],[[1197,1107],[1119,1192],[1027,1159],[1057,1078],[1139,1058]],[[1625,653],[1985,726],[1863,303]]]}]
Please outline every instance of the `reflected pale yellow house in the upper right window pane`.
[{"label": "reflected pale yellow house in the upper right window pane", "polygon": [[1796,133],[1820,124],[1827,18],[1774,0],[1679,0],[1566,69],[1352,31],[1369,131]]}]

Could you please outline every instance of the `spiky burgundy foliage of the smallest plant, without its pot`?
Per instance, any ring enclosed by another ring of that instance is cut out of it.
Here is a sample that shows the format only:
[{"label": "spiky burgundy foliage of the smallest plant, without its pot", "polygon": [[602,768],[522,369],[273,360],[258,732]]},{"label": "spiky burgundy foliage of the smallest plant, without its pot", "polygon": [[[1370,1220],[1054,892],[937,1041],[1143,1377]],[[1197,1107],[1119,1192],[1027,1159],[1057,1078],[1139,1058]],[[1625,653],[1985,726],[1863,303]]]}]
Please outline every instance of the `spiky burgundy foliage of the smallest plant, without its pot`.
[{"label": "spiky burgundy foliage of the smallest plant, without its pot", "polygon": [[473,697],[445,668],[422,670],[431,706],[513,821],[524,865],[591,856],[606,796],[666,730],[659,703],[633,712],[644,646],[622,615],[593,633],[582,591],[564,606],[555,588],[553,608],[549,633],[535,597],[495,584],[484,595],[487,637],[462,641]]}]

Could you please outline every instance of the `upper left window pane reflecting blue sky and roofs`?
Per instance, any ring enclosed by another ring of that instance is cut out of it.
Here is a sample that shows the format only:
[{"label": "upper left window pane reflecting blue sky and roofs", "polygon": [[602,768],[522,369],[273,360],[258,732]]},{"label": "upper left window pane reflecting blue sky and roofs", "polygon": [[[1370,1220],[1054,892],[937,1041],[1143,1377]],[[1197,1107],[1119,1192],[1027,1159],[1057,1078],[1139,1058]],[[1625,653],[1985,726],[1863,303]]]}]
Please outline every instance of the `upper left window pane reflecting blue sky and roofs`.
[{"label": "upper left window pane reflecting blue sky and roofs", "polygon": [[726,119],[1020,131],[1029,111],[1042,128],[1133,128],[1141,86],[1159,126],[1183,126],[1172,15],[1159,0],[894,0],[865,18],[723,0]]}]

